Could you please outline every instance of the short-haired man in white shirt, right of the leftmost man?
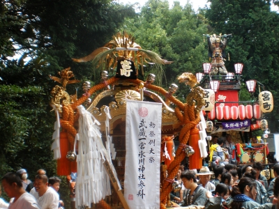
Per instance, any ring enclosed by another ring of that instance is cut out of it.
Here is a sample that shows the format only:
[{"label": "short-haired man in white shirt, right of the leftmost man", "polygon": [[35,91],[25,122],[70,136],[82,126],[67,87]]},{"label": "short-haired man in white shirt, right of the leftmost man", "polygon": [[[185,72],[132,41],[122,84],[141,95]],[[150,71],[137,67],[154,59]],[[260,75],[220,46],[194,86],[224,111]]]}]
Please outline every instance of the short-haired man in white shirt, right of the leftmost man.
[{"label": "short-haired man in white shirt, right of the leftmost man", "polygon": [[35,177],[34,187],[31,189],[30,194],[36,198],[40,208],[58,208],[59,195],[52,187],[48,186],[48,178],[44,174],[38,174]]}]

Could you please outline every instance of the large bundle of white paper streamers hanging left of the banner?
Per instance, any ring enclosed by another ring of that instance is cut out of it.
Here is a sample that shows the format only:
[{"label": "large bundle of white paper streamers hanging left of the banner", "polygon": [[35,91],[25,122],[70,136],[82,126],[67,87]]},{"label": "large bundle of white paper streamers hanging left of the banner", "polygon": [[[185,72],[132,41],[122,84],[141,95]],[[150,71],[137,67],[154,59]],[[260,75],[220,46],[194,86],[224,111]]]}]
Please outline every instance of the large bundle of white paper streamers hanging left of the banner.
[{"label": "large bundle of white paper streamers hanging left of the banner", "polygon": [[[103,165],[105,160],[110,162],[110,157],[103,146],[98,127],[100,123],[82,105],[77,109],[80,118],[79,132],[76,136],[78,155],[75,206],[91,207],[91,203],[98,203],[111,194],[110,178]],[[112,171],[116,175],[115,170],[112,169]]]}]

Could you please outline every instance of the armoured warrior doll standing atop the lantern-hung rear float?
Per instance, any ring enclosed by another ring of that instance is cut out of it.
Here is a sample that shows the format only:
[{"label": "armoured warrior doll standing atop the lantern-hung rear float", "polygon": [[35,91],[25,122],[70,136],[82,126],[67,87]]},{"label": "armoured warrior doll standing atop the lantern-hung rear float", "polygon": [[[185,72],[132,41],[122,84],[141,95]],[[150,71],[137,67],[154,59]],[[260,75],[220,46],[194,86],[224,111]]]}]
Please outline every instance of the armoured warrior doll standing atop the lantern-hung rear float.
[{"label": "armoured warrior doll standing atop the lantern-hung rear float", "polygon": [[[227,75],[227,69],[225,67],[225,47],[227,46],[227,37],[229,35],[213,36],[206,35],[209,44],[209,60],[211,60],[210,75]],[[230,35],[231,36],[231,35]]]}]

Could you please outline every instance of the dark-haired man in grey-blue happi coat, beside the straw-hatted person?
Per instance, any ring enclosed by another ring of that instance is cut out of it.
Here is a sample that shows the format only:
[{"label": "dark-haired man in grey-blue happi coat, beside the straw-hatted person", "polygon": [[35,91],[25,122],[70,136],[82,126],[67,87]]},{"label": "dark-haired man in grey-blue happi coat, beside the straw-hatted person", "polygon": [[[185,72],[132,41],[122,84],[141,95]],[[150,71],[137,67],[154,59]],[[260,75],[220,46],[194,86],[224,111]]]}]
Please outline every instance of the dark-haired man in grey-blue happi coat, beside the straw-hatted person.
[{"label": "dark-haired man in grey-blue happi coat, beside the straw-hatted person", "polygon": [[181,174],[183,185],[186,187],[186,196],[182,206],[205,206],[206,189],[197,185],[197,178],[194,171],[186,171]]}]

